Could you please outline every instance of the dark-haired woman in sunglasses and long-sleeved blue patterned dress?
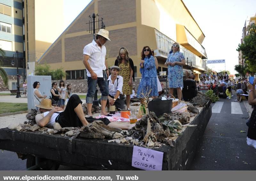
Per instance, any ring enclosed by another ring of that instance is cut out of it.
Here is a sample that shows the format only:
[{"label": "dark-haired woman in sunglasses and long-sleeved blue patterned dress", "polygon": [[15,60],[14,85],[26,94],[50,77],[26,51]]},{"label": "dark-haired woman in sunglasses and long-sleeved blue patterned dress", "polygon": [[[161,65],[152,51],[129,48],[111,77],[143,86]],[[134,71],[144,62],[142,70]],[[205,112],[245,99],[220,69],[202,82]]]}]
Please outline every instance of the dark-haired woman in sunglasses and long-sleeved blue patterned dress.
[{"label": "dark-haired woman in sunglasses and long-sleeved blue patterned dress", "polygon": [[150,90],[149,96],[157,98],[156,64],[148,46],[144,46],[141,52],[140,73],[141,80],[137,91],[138,98],[144,98]]}]

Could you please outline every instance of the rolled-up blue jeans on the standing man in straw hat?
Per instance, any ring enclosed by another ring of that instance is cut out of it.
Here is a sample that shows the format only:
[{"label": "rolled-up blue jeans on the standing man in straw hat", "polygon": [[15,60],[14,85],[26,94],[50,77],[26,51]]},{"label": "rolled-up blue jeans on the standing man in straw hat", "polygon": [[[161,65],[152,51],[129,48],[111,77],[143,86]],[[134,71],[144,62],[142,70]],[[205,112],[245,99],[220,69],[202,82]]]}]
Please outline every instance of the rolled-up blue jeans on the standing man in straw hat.
[{"label": "rolled-up blue jeans on the standing man in straw hat", "polygon": [[87,77],[88,90],[86,95],[86,103],[92,104],[97,83],[101,92],[101,100],[108,99],[108,77],[106,72],[103,71],[103,77],[97,77],[97,80],[92,79],[92,77]]}]

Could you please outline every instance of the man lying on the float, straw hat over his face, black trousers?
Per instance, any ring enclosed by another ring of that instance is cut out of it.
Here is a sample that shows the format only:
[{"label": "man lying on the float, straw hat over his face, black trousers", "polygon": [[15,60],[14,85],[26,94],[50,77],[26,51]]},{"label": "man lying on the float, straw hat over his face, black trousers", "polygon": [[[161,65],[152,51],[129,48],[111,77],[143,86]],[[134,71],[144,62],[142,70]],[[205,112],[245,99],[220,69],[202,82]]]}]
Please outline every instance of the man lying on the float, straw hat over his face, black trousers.
[{"label": "man lying on the float, straw hat over his face, black trousers", "polygon": [[69,98],[64,111],[60,107],[53,107],[51,99],[42,99],[40,104],[37,104],[36,107],[39,108],[41,113],[36,115],[36,124],[40,127],[53,127],[55,122],[58,122],[61,127],[82,127],[95,120],[101,120],[108,126],[123,130],[128,130],[135,126],[135,124],[118,124],[118,122],[110,122],[107,118],[85,118],[82,101],[76,94],[73,94]]}]

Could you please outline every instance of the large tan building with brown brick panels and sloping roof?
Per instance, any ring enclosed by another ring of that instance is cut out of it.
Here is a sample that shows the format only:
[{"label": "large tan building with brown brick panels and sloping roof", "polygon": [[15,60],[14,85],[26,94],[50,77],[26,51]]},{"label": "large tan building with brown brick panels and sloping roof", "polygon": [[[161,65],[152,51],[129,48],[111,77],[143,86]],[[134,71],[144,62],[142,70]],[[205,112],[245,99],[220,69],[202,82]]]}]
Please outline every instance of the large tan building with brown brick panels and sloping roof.
[{"label": "large tan building with brown brick panels and sloping roof", "polygon": [[182,0],[92,0],[37,62],[50,64],[53,69],[63,67],[67,80],[86,79],[83,48],[93,39],[86,25],[93,13],[103,18],[109,31],[109,67],[114,64],[118,49],[125,47],[134,62],[135,76],[141,77],[140,53],[147,45],[155,51],[158,72],[166,71],[164,62],[171,46],[179,42],[186,59],[183,68],[192,67],[196,78],[207,70],[202,46],[205,35]]}]

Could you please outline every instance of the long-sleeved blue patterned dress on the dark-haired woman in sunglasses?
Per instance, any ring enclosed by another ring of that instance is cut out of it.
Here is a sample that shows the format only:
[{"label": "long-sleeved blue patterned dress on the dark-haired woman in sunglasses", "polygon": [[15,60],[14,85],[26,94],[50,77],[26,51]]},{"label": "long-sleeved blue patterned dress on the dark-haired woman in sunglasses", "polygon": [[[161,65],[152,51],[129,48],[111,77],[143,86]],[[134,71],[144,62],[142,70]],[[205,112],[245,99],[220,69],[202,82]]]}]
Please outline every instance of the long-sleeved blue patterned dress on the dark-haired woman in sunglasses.
[{"label": "long-sleeved blue patterned dress on the dark-haired woman in sunglasses", "polygon": [[156,80],[156,64],[153,56],[144,59],[144,67],[140,68],[141,80],[137,91],[137,97],[143,98],[141,93],[146,95],[147,91],[151,89],[149,96],[158,96],[157,80]]}]

